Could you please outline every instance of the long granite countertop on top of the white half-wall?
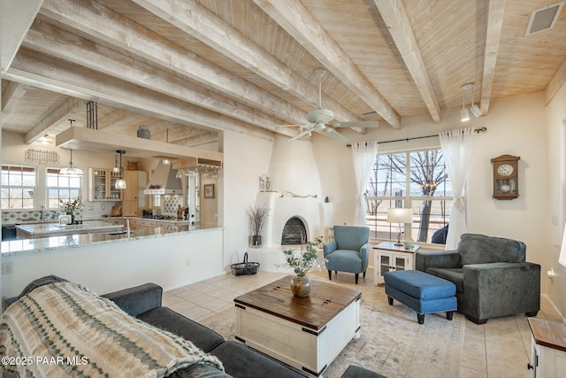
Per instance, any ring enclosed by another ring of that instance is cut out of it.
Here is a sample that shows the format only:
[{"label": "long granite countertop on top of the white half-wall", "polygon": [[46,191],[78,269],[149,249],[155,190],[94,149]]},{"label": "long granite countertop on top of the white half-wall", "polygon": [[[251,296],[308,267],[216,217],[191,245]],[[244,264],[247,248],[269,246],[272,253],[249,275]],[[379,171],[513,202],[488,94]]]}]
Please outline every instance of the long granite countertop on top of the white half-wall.
[{"label": "long granite countertop on top of the white half-wall", "polygon": [[61,248],[77,248],[88,244],[103,243],[127,243],[130,240],[138,240],[149,237],[162,237],[180,233],[206,232],[221,229],[221,227],[199,228],[189,225],[167,225],[157,228],[138,228],[131,231],[130,235],[120,233],[95,233],[82,235],[63,235],[43,237],[40,239],[24,239],[2,242],[2,256],[42,253],[45,251],[56,251]]}]

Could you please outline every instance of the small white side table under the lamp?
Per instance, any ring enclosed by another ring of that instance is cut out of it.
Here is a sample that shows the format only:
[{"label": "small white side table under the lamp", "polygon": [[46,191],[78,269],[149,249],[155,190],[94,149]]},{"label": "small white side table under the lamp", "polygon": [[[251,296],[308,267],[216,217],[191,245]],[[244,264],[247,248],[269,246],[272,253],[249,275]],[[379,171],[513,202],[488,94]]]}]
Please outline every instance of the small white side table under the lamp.
[{"label": "small white side table under the lamp", "polygon": [[373,246],[373,282],[377,286],[384,283],[383,274],[397,270],[415,269],[415,252],[420,245],[412,244],[410,249],[393,242],[379,243]]}]

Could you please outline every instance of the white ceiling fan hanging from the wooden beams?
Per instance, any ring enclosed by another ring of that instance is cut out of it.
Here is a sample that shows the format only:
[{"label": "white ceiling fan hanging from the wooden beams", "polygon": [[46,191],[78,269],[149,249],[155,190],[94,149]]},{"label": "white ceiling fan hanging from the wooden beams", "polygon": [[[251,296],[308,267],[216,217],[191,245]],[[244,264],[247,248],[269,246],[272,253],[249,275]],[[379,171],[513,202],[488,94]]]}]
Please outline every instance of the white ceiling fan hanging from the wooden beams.
[{"label": "white ceiling fan hanging from the wooden beams", "polygon": [[375,120],[371,121],[351,121],[351,122],[339,122],[334,121],[334,113],[330,109],[324,109],[322,107],[322,78],[325,75],[326,70],[324,68],[318,68],[315,74],[318,78],[318,108],[310,111],[307,114],[307,125],[287,125],[287,126],[299,126],[299,133],[294,135],[289,142],[301,138],[304,135],[310,136],[313,131],[320,133],[322,135],[332,138],[336,142],[346,143],[348,139],[341,135],[338,131],[334,130],[333,127],[378,127],[379,123]]}]

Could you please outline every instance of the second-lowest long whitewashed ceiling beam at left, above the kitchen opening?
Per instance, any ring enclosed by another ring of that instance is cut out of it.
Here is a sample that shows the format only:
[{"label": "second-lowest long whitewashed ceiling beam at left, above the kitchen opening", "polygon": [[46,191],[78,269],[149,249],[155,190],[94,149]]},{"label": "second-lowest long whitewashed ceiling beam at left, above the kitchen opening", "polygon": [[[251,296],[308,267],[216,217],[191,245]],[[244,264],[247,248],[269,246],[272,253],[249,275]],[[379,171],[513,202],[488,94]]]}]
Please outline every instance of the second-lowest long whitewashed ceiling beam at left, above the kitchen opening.
[{"label": "second-lowest long whitewashed ceiling beam at left, above the kitchen opening", "polygon": [[[231,98],[212,93],[199,86],[187,88],[187,82],[180,81],[171,73],[159,71],[153,66],[128,58],[116,51],[94,42],[72,35],[46,22],[36,22],[30,28],[23,46],[40,51],[54,58],[73,62],[93,71],[128,81],[166,96],[172,96],[190,104],[196,104],[213,112],[219,112],[237,120],[268,127],[277,125],[273,119],[246,104],[239,104]],[[127,67],[127,69],[124,69]]]}]

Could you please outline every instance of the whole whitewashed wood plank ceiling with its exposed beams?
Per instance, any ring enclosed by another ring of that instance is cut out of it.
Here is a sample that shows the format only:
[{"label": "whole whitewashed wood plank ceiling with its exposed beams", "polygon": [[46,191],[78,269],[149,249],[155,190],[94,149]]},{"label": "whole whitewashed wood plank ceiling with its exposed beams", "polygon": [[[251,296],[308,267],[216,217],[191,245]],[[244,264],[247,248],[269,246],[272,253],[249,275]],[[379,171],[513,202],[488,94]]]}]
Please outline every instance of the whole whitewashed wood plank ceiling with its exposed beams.
[{"label": "whole whitewashed wood plank ceiling with its exposed beams", "polygon": [[[322,105],[336,120],[439,122],[474,82],[491,100],[566,78],[566,12],[525,36],[556,0],[44,0],[2,73],[3,128],[26,143],[84,127],[198,146],[231,129],[293,136]],[[468,95],[470,96],[470,94]],[[468,97],[467,102],[470,102]],[[356,128],[363,133],[363,128]]]}]

